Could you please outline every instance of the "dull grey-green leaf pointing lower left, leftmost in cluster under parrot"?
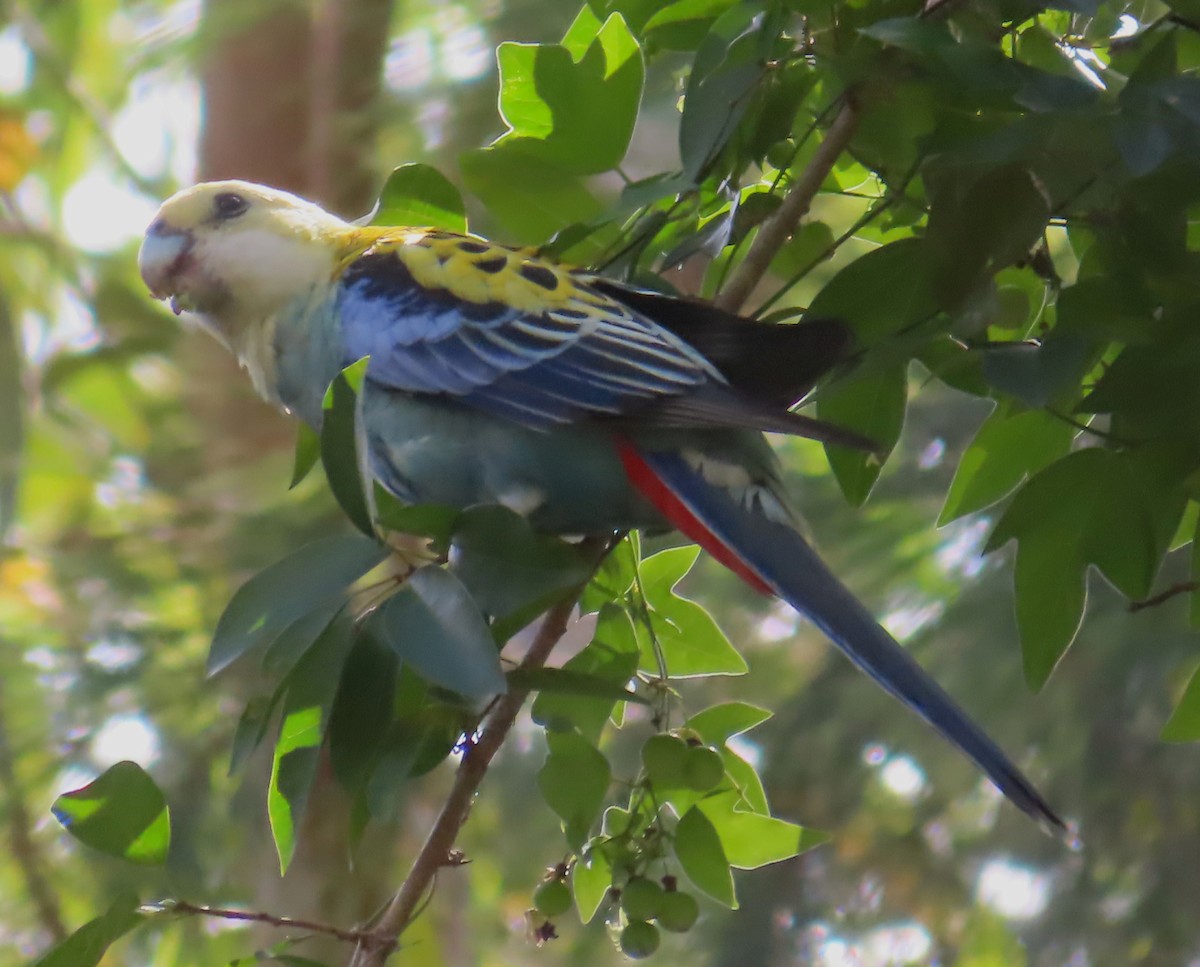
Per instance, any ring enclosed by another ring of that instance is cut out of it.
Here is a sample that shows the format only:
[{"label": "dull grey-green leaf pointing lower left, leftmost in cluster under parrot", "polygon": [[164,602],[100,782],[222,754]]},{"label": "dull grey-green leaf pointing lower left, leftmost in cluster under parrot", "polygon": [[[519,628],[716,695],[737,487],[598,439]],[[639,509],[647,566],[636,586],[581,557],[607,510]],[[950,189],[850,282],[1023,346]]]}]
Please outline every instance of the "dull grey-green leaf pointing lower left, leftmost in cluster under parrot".
[{"label": "dull grey-green leaf pointing lower left, leftmost in cluster under parrot", "polygon": [[226,606],[205,666],[212,675],[251,648],[271,641],[299,618],[342,595],[347,585],[388,557],[388,548],[356,534],[322,537],[247,581]]}]

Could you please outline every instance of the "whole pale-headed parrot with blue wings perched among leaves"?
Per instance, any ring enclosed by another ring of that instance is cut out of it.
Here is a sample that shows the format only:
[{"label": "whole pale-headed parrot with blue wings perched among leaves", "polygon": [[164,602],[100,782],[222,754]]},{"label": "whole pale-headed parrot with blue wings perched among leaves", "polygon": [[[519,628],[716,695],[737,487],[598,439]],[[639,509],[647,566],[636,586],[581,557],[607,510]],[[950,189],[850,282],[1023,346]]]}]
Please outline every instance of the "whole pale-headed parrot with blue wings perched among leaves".
[{"label": "whole pale-headed parrot with blue wings perched among leaves", "polygon": [[138,253],[258,392],[319,428],[368,358],[368,466],[402,501],[500,504],[535,529],[678,529],[806,615],[1043,828],[1033,783],[804,536],[764,433],[871,449],[794,413],[845,359],[835,319],[779,325],[440,228],[365,227],[294,194],[211,181],[162,204]]}]

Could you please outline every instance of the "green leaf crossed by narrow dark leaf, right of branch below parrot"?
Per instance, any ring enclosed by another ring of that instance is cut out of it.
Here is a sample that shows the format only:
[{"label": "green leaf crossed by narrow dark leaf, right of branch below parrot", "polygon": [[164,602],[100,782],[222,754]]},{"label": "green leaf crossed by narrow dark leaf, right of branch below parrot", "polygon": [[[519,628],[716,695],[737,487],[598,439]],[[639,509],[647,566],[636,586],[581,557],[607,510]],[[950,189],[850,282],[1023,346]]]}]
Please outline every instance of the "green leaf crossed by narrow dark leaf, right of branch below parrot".
[{"label": "green leaf crossed by narrow dark leaf, right of branch below parrot", "polygon": [[[637,673],[638,657],[637,637],[629,615],[617,605],[608,603],[600,609],[595,635],[588,647],[571,656],[562,671],[599,679],[610,689],[624,691],[626,683]],[[596,744],[616,704],[613,693],[586,698],[544,691],[534,699],[530,715],[546,728],[576,728],[588,741]]]}]

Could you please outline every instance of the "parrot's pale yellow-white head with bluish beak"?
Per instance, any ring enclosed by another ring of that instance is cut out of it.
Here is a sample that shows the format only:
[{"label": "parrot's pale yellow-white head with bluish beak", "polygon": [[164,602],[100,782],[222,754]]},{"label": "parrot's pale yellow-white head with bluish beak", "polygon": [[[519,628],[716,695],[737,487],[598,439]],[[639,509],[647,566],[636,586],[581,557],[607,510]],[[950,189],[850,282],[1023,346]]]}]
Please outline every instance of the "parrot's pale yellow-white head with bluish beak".
[{"label": "parrot's pale yellow-white head with bluish beak", "polygon": [[209,181],[167,199],[138,253],[142,278],[227,343],[331,278],[349,226],[311,202],[248,181]]}]

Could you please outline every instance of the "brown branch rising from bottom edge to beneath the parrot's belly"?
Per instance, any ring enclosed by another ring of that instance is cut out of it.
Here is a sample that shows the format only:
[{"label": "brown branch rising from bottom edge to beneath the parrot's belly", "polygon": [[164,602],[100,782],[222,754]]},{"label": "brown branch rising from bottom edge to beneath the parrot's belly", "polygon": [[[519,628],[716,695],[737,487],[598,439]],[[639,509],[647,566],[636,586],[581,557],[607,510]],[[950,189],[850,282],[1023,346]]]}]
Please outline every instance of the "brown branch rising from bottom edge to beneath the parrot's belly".
[{"label": "brown branch rising from bottom edge to beneath the parrot's belly", "polygon": [[[608,541],[588,540],[583,542],[583,551],[589,557],[599,558],[608,546]],[[582,590],[581,587],[580,593]],[[578,593],[572,594],[546,612],[520,668],[539,668],[546,663],[554,645],[566,633],[577,599]],[[463,753],[450,794],[442,805],[425,845],[413,860],[408,876],[384,908],[374,929],[359,942],[349,967],[383,967],[389,954],[396,949],[400,935],[415,918],[418,907],[427,896],[438,870],[443,866],[461,865],[461,857],[454,853],[458,830],[467,821],[470,804],[487,774],[487,768],[512,729],[517,713],[521,711],[528,695],[527,689],[514,689],[492,707],[479,738]]]}]

